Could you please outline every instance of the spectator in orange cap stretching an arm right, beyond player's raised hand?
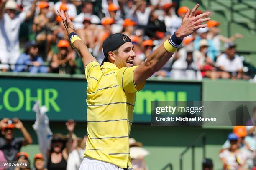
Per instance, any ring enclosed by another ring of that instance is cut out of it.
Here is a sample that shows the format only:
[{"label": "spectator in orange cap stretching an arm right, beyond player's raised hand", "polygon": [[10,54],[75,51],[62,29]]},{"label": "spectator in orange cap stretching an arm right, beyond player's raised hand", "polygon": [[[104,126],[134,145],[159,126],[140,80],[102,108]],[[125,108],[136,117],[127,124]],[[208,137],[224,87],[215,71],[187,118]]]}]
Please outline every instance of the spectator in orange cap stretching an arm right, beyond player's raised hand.
[{"label": "spectator in orange cap stretching an arm right, beyond player's raised hand", "polygon": [[217,50],[217,52],[220,54],[220,45],[221,45],[221,41],[222,42],[233,42],[234,40],[236,40],[237,38],[243,38],[243,35],[241,34],[234,34],[233,36],[231,36],[230,38],[228,37],[224,37],[223,35],[220,35],[220,29],[218,28],[218,26],[220,25],[219,22],[215,21],[215,20],[210,20],[207,22],[207,26],[209,28],[209,33],[207,35],[207,39],[210,39],[213,41],[215,49]]}]

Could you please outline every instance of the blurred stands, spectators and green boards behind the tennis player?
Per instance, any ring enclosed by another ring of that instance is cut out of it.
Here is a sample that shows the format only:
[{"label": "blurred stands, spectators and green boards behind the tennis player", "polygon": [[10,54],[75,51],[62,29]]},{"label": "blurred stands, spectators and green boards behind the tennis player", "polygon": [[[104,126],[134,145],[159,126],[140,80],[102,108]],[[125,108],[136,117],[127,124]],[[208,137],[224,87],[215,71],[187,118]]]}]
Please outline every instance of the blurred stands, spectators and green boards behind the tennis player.
[{"label": "blurred stands, spectators and green boards behind the tennis player", "polygon": [[246,127],[158,127],[151,126],[150,114],[152,100],[255,100],[254,0],[0,0],[0,159],[30,161],[38,170],[55,164],[78,169],[87,84],[56,10],[69,13],[98,62],[105,38],[122,32],[140,65],[196,3],[196,15],[211,12],[208,27],[186,37],[137,93],[130,134],[134,170],[253,169],[255,109]]}]

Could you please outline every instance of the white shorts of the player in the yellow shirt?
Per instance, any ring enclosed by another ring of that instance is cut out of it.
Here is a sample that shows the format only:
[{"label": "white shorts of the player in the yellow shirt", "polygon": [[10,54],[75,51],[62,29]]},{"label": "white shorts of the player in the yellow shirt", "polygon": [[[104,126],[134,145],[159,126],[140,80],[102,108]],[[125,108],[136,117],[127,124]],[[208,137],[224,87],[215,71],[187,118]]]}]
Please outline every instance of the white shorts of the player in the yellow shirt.
[{"label": "white shorts of the player in the yellow shirt", "polygon": [[123,168],[119,168],[112,163],[107,163],[101,160],[95,160],[90,157],[85,157],[80,164],[79,170],[123,170]]}]

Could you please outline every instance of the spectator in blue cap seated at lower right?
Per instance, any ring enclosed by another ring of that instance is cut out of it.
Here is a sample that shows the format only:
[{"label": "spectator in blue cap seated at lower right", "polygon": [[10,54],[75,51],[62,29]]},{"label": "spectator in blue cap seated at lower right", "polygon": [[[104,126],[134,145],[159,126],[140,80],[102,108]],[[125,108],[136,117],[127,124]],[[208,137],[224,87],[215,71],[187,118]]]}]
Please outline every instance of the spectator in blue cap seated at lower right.
[{"label": "spectator in blue cap seated at lower right", "polygon": [[230,141],[230,147],[219,155],[221,162],[223,163],[223,169],[237,170],[246,168],[248,155],[238,147],[238,136],[235,133],[230,133],[228,135],[228,140]]}]

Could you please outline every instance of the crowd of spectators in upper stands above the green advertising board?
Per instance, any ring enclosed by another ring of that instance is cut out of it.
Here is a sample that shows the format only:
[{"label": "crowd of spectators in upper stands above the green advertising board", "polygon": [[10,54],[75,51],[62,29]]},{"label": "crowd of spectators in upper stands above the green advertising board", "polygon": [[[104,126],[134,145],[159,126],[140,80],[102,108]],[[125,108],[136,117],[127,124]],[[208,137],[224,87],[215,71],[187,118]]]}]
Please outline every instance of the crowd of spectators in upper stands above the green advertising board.
[{"label": "crowd of spectators in upper stands above the green advertising board", "polygon": [[[172,0],[1,0],[0,70],[31,73],[84,73],[82,61],[72,49],[57,10],[64,10],[79,37],[98,62],[104,55],[102,42],[113,33],[128,35],[134,45],[134,65],[172,35],[182,23],[187,7]],[[200,15],[198,10],[196,15]],[[20,54],[20,25],[31,25],[29,42]],[[250,79],[243,71],[243,57],[236,54],[236,33],[220,34],[219,22],[210,20],[207,28],[183,40],[182,46],[154,76],[172,79],[202,78]],[[225,50],[221,51],[221,42]]]}]

